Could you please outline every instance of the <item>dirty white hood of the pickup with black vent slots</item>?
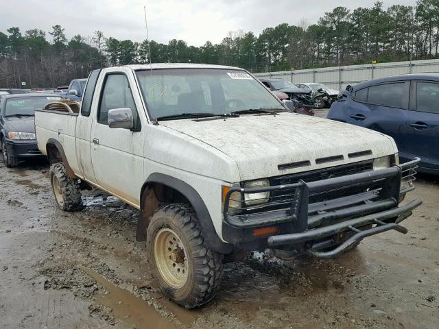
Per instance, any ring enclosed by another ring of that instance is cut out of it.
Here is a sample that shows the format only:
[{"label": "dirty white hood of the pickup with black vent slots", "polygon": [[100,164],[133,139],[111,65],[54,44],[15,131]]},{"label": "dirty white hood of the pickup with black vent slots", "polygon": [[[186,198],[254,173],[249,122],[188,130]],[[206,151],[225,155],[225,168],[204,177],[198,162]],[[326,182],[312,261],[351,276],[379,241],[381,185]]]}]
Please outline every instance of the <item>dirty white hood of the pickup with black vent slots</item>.
[{"label": "dirty white hood of the pickup with black vent slots", "polygon": [[[235,160],[241,180],[334,167],[397,152],[393,139],[379,132],[289,112],[208,121],[160,121],[160,125],[189,135]],[[352,157],[368,150],[372,154]],[[322,160],[329,157],[339,160]],[[278,168],[308,161],[302,167]]]}]

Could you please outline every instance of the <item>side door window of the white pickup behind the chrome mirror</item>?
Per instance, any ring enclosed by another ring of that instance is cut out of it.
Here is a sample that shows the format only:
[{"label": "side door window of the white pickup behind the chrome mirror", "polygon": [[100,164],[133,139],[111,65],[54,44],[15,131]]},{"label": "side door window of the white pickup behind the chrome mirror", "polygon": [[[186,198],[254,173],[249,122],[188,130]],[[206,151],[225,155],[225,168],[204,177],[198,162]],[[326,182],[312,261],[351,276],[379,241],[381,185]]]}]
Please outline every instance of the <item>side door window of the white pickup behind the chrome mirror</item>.
[{"label": "side door window of the white pickup behind the chrome mirror", "polygon": [[104,84],[104,91],[99,104],[97,122],[108,125],[108,111],[112,108],[130,108],[134,123],[138,122],[138,115],[130,84],[126,75],[108,74]]}]

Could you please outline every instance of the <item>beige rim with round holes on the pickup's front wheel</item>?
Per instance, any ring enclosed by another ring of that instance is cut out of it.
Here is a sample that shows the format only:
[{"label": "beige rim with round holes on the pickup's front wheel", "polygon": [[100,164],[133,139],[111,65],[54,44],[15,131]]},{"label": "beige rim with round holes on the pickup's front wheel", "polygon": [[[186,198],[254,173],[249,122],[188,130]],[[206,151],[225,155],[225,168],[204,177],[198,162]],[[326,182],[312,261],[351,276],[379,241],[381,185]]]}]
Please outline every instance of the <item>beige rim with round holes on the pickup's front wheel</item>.
[{"label": "beige rim with round holes on the pickup's front wheel", "polygon": [[187,254],[178,235],[162,228],[154,239],[154,259],[161,277],[169,286],[181,288],[188,276]]}]

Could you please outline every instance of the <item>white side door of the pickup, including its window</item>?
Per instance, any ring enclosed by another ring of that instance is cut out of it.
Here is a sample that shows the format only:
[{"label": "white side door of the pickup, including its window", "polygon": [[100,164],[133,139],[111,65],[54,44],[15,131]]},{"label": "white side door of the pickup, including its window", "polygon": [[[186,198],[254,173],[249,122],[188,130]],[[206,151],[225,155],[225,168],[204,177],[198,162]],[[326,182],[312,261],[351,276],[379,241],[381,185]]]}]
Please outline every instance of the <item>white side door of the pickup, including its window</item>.
[{"label": "white side door of the pickup, including its window", "polygon": [[[120,69],[119,69],[120,70]],[[114,71],[106,73],[102,82],[97,116],[91,132],[91,160],[97,184],[120,199],[139,205],[139,191],[143,184],[143,132],[138,109],[140,99],[134,100],[135,82],[132,73]],[[134,128],[108,127],[108,111],[113,108],[130,108]],[[143,121],[145,125],[145,121]]]}]

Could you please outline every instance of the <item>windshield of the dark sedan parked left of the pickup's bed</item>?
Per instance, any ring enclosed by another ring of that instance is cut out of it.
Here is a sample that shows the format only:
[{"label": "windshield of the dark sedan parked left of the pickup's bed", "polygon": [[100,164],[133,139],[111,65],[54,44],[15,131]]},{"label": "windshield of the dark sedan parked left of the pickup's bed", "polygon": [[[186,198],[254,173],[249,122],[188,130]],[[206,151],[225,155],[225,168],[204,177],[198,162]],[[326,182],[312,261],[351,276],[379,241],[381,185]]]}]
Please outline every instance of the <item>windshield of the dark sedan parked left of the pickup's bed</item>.
[{"label": "windshield of the dark sedan parked left of the pickup's bed", "polygon": [[60,97],[16,97],[6,99],[5,117],[34,115],[35,110],[42,110],[47,103],[58,101]]}]

